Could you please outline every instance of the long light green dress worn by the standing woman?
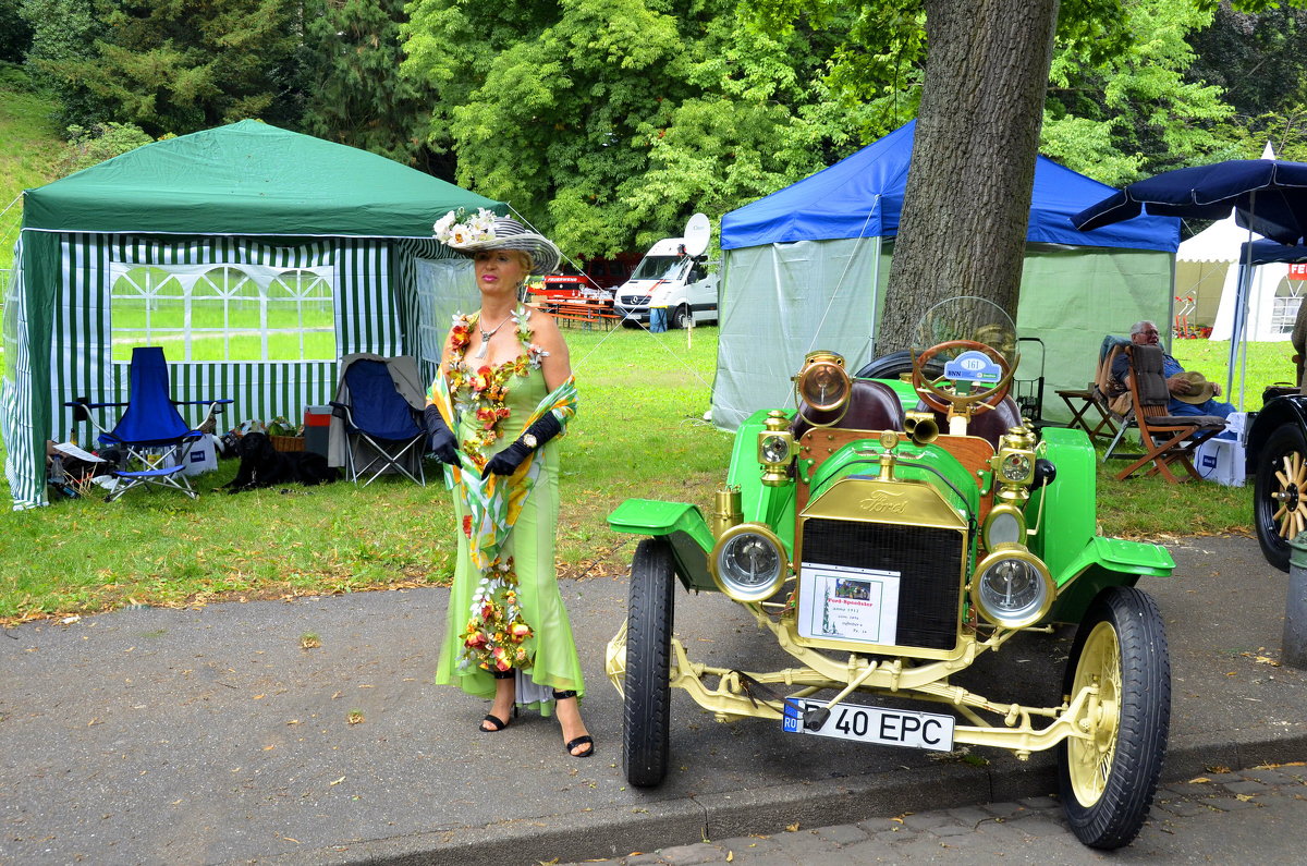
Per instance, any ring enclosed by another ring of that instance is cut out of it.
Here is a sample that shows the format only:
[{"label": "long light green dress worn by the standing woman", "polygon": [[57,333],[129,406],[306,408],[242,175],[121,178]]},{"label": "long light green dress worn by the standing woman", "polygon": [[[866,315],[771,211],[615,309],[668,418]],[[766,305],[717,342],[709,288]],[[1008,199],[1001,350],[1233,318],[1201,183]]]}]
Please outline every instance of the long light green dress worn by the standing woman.
[{"label": "long light green dress worn by the standing woman", "polygon": [[[508,377],[505,406],[510,415],[501,423],[503,436],[493,449],[486,450],[486,458],[512,445],[521,436],[527,419],[548,392],[545,375],[540,369],[529,369],[525,377]],[[476,426],[478,425],[474,420],[460,419],[457,441],[471,438]],[[546,442],[536,459],[540,462],[540,475],[535,489],[527,497],[502,552],[514,559],[519,606],[523,619],[535,633],[533,665],[518,671],[518,702],[549,714],[553,706],[549,702],[550,689],[575,689],[578,693],[584,693],[584,683],[571,623],[558,594],[558,574],[554,570],[554,535],[558,526],[558,438]],[[461,527],[468,510],[457,485],[454,489],[454,509],[456,526]],[[461,633],[468,623],[473,590],[481,578],[481,572],[468,555],[467,535],[460,531],[457,536],[459,560],[454,572],[454,587],[450,590],[444,641],[440,645],[435,682],[456,683],[469,695],[489,699],[495,691],[490,672],[476,666],[461,670],[459,667]]]}]

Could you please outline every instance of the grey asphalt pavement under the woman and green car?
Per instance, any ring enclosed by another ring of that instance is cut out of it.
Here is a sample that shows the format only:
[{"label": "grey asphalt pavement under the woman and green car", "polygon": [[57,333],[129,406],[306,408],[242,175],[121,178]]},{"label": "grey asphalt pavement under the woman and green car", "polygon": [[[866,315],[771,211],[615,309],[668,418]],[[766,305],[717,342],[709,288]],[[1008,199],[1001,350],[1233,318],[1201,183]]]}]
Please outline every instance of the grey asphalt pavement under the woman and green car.
[{"label": "grey asphalt pavement under the woman and green car", "polygon": [[[1278,665],[1287,576],[1247,538],[1170,547],[1176,574],[1140,583],[1171,648],[1163,784],[1303,760],[1307,671]],[[588,678],[588,760],[563,751],[553,719],[478,733],[488,704],[431,683],[447,597],[227,602],[4,629],[0,861],[567,862],[1055,790],[1050,753],[932,757],[723,725],[680,692],[668,781],[633,789],[620,697],[603,675],[625,578],[563,583]],[[784,663],[718,595],[678,590],[676,632],[695,661]],[[320,645],[306,649],[308,636]],[[1069,642],[1069,629],[1021,636],[957,682],[1056,702]]]}]

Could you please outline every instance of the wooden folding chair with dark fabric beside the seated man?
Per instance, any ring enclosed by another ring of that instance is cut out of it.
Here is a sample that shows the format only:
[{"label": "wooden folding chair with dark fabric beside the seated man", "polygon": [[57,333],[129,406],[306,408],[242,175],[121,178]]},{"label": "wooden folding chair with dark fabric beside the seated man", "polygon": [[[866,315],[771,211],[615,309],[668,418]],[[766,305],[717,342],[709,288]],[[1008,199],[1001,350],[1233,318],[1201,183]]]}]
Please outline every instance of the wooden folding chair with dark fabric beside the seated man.
[{"label": "wooden folding chair with dark fabric beside the seated man", "polygon": [[[1202,480],[1193,468],[1193,450],[1225,429],[1225,419],[1216,415],[1171,415],[1167,404],[1171,394],[1162,374],[1162,349],[1155,345],[1129,345],[1129,387],[1134,403],[1134,425],[1140,432],[1140,445],[1145,454],[1116,475],[1121,481],[1153,464],[1144,475],[1161,472],[1171,484],[1182,480]],[[1188,472],[1176,477],[1171,467]]]}]

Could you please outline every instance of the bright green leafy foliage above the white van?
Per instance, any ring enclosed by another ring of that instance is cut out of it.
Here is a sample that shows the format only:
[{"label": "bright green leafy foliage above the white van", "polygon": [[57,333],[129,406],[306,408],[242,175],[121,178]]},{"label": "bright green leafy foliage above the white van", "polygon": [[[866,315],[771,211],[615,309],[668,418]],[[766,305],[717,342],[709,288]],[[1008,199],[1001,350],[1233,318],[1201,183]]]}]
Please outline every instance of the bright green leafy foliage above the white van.
[{"label": "bright green leafy foliage above the white van", "polygon": [[429,143],[569,255],[613,255],[846,156],[831,37],[761,33],[733,0],[417,0],[403,71],[437,94]]}]

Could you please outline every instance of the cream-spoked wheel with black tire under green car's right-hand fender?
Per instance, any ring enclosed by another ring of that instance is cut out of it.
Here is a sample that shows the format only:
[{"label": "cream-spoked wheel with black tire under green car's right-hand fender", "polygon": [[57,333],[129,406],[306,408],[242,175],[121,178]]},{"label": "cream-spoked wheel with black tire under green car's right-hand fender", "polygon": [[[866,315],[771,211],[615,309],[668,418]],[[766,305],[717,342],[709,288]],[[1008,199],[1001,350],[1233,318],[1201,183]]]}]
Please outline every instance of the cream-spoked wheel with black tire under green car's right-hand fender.
[{"label": "cream-spoked wheel with black tire under green car's right-hand fender", "polygon": [[1090,738],[1069,738],[1057,747],[1057,790],[1077,839],[1110,850],[1129,845],[1144,825],[1171,727],[1166,629],[1146,593],[1114,586],[1090,604],[1072,644],[1063,691],[1069,700],[1081,683],[1095,680],[1106,712],[1095,721],[1086,705],[1078,721]]}]

